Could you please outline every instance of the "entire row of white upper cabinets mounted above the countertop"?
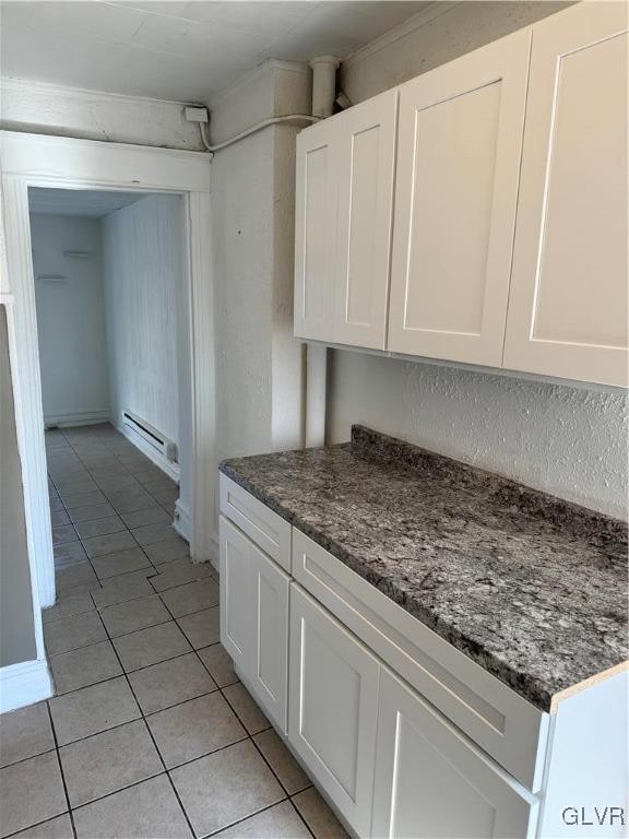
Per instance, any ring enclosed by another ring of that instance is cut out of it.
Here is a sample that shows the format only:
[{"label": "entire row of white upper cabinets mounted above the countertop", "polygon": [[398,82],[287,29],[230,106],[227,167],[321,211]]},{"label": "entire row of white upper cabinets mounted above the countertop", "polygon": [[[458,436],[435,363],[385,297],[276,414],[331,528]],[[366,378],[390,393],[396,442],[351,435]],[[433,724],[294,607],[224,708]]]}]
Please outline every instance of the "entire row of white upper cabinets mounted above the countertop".
[{"label": "entire row of white upper cabinets mounted above the countertop", "polygon": [[578,3],[302,131],[295,334],[626,387],[627,15]]}]

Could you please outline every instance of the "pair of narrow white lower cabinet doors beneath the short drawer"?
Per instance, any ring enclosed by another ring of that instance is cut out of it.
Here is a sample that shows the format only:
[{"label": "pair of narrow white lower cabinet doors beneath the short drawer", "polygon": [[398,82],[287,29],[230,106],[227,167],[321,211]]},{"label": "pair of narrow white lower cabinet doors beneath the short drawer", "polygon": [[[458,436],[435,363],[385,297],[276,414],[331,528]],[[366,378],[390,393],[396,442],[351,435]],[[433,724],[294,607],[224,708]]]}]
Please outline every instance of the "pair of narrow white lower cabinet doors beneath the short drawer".
[{"label": "pair of narrow white lower cabinet doors beneath the short drawer", "polygon": [[284,733],[289,583],[287,574],[221,517],[221,640]]}]

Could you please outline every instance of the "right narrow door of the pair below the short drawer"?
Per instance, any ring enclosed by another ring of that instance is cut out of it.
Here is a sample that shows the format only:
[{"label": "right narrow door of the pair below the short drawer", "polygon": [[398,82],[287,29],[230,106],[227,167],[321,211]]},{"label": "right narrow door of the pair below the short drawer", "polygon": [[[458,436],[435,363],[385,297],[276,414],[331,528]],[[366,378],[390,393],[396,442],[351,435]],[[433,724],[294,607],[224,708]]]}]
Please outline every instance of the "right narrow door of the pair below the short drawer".
[{"label": "right narrow door of the pair below the short drawer", "polygon": [[251,545],[253,612],[256,622],[251,686],[261,705],[284,733],[287,732],[288,590],[290,577]]}]

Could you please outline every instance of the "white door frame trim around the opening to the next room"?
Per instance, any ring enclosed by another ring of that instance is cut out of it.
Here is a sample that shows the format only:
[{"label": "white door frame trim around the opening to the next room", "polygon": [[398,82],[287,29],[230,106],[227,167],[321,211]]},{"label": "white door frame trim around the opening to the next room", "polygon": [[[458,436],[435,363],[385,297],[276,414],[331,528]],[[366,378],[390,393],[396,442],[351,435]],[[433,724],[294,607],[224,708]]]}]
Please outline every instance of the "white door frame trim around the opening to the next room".
[{"label": "white door frame trim around the opening to the next room", "polygon": [[31,575],[38,603],[55,603],[55,560],[37,344],[28,187],[176,192],[183,197],[187,247],[185,322],[190,374],[190,554],[216,553],[214,315],[210,156],[153,146],[0,131],[7,270],[2,300],[11,302],[10,346],[17,445],[22,460]]}]

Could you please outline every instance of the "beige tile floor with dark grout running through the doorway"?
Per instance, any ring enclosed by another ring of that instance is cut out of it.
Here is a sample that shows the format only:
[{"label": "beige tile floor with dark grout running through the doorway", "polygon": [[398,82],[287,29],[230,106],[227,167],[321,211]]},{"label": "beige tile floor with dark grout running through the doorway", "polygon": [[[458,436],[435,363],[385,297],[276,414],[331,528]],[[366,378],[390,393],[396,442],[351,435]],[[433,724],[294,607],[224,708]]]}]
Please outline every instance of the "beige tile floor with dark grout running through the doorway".
[{"label": "beige tile floor with dark grout running through the doorway", "polygon": [[107,425],[46,448],[56,696],[0,718],[0,837],[346,837],[232,669],[175,484]]}]

